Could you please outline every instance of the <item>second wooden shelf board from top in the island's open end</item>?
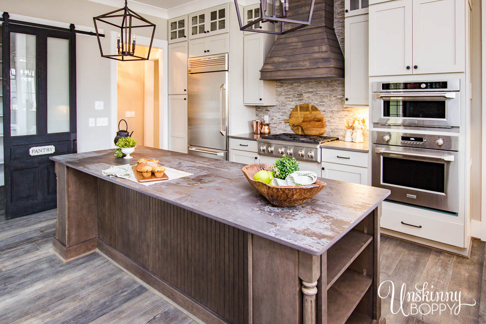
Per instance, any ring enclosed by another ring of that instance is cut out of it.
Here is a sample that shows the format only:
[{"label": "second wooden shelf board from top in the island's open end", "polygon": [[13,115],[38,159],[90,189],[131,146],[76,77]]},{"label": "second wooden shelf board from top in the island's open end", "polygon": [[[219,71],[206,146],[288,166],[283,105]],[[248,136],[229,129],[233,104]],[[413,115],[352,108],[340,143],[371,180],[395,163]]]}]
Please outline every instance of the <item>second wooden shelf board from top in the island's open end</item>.
[{"label": "second wooden shelf board from top in the island's open end", "polygon": [[328,290],[328,323],[346,323],[373,279],[354,270],[346,270]]}]

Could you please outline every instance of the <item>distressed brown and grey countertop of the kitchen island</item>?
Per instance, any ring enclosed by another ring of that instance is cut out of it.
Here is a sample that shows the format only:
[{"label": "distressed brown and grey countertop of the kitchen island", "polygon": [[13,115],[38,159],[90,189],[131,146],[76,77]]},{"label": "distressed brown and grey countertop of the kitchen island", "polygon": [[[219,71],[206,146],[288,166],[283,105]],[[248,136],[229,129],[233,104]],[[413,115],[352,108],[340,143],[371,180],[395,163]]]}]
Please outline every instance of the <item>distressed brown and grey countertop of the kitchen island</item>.
[{"label": "distressed brown and grey countertop of the kitchen island", "polygon": [[[295,207],[271,205],[243,176],[243,164],[139,146],[133,159],[114,150],[51,157],[52,161],[136,190],[293,249],[319,256],[363,220],[390,190],[325,179],[318,195]],[[152,186],[102,175],[110,165],[158,159],[162,166],[193,175]],[[88,202],[87,202],[88,203]]]}]

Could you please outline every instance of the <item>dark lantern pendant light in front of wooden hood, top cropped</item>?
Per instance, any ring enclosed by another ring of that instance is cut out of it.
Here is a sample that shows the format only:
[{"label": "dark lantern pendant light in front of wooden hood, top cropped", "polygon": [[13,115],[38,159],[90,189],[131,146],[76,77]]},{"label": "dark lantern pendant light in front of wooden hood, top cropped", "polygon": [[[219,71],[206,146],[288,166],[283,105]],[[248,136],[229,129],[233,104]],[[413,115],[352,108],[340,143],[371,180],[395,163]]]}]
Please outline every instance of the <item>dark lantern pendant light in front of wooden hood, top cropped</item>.
[{"label": "dark lantern pendant light in front of wooden hood, top cropped", "polygon": [[[238,22],[240,23],[240,30],[245,32],[256,32],[256,33],[266,33],[266,34],[287,34],[293,32],[299,28],[309,26],[311,24],[312,11],[314,10],[314,1],[311,0],[309,16],[307,21],[288,19],[289,14],[289,2],[297,2],[297,0],[269,0],[272,3],[272,8],[268,8],[267,13],[267,0],[260,0],[260,17],[250,21],[243,26],[242,17],[240,15],[240,8],[238,7],[238,0],[235,0],[236,14],[238,15]],[[280,7],[280,14],[277,14],[277,6]],[[265,22],[270,22],[272,24],[280,23],[279,31],[268,31],[261,28],[254,29],[253,26],[256,24],[261,24]],[[296,24],[297,26],[285,30],[285,23]]]}]

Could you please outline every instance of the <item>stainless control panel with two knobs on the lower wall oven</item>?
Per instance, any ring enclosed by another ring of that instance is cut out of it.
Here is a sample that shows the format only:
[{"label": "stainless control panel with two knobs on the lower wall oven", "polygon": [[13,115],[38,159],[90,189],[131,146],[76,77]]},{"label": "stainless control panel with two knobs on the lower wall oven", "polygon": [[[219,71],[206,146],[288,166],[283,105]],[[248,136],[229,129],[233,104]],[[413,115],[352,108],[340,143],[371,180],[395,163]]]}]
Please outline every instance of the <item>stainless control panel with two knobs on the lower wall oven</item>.
[{"label": "stainless control panel with two knobs on the lower wall oven", "polygon": [[458,151],[459,137],[449,135],[410,134],[399,132],[372,133],[373,144],[417,147],[446,151]]}]

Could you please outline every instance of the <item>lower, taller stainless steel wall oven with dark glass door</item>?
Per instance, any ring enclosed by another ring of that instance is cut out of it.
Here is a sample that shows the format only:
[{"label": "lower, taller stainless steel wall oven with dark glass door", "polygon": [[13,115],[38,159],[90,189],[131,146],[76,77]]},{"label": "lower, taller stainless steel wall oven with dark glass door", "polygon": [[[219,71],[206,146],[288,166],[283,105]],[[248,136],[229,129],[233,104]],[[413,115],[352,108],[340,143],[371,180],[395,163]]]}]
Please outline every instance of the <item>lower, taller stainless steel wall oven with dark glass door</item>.
[{"label": "lower, taller stainless steel wall oven with dark glass door", "polygon": [[[373,141],[382,141],[383,136],[381,135],[384,133],[374,132]],[[380,135],[377,136],[377,134]],[[391,144],[396,142],[397,138],[411,138],[412,141],[404,140],[403,142],[406,142],[404,145],[421,145],[413,142],[417,138],[414,135],[408,136],[409,134],[401,133],[391,133],[390,135],[393,137],[388,140]],[[385,135],[385,139],[388,139],[387,136],[390,135]],[[433,142],[436,136],[420,137],[420,141],[427,140],[427,137],[432,137],[429,142]],[[455,149],[456,144],[449,143],[450,138],[448,137],[451,136],[442,136],[440,140],[448,142],[447,146]],[[453,141],[456,139],[457,137],[452,138]],[[427,145],[429,147],[437,145],[436,143],[429,144]],[[458,159],[459,154],[456,151],[422,148],[422,146],[373,144],[372,186],[390,189],[391,194],[388,200],[456,214],[459,196]]]}]

